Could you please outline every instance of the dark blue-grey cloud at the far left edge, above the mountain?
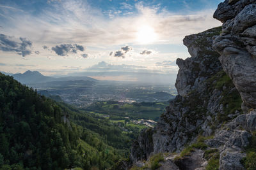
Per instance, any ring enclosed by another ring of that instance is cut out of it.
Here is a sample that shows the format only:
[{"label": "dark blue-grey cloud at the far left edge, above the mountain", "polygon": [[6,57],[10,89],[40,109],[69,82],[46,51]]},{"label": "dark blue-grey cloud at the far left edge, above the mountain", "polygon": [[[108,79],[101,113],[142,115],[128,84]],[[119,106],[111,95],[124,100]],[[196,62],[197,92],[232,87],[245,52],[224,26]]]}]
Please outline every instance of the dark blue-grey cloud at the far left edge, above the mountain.
[{"label": "dark blue-grey cloud at the far left edge, above the mountain", "polygon": [[16,52],[22,57],[31,54],[32,41],[21,37],[20,41],[14,41],[11,36],[0,34],[0,50],[3,52]]}]

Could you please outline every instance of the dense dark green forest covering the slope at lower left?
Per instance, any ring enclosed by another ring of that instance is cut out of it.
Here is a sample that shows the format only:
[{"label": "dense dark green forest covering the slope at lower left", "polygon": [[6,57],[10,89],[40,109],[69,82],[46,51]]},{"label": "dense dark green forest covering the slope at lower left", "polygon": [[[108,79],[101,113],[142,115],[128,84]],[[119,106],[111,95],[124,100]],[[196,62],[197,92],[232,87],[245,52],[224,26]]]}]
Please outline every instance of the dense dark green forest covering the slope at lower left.
[{"label": "dense dark green forest covering the slope at lower left", "polygon": [[0,73],[0,169],[106,169],[134,138]]}]

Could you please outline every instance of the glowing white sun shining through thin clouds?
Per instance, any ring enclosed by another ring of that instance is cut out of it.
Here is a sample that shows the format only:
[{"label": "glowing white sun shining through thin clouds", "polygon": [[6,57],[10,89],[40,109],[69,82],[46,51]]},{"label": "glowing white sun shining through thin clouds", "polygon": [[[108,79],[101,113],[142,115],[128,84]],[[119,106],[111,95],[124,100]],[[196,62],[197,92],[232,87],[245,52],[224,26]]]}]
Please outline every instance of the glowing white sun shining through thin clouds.
[{"label": "glowing white sun shining through thin clouds", "polygon": [[143,25],[139,27],[137,32],[137,41],[141,44],[153,43],[156,41],[157,36],[154,28],[149,25]]}]

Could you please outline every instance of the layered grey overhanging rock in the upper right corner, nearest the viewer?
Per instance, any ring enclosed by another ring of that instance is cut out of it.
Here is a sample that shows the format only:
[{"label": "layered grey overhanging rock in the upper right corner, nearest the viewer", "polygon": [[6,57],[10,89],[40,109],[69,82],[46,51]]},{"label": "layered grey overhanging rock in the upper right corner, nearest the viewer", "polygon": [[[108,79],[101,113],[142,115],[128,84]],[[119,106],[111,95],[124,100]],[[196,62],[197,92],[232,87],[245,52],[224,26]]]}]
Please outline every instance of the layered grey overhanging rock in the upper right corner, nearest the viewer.
[{"label": "layered grey overhanging rock in the upper right corner, nearest the viewer", "polygon": [[256,108],[256,1],[225,1],[214,17],[223,22],[214,39],[223,70],[232,78],[243,99],[243,110]]}]

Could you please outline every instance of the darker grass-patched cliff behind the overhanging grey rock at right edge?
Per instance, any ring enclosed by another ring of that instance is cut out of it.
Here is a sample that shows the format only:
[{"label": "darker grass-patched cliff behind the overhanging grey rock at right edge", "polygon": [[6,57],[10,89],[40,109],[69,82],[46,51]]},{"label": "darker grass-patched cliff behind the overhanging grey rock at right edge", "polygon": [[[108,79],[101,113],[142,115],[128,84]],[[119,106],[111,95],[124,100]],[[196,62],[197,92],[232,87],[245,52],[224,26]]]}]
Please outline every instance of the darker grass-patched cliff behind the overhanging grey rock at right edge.
[{"label": "darker grass-patched cliff behind the overhanging grey rock at right edge", "polygon": [[[222,71],[218,60],[220,55],[212,49],[212,37],[219,35],[220,31],[221,27],[216,27],[184,38],[184,45],[188,46],[191,57],[177,59],[180,69],[175,86],[179,95],[152,130],[154,134],[150,146],[153,150],[149,150],[153,153],[179,152],[199,132],[209,136],[222,122],[241,114],[239,94]],[[228,106],[228,99],[234,99],[237,106],[234,103]],[[131,159],[135,162],[148,158],[140,155],[150,155],[141,142],[141,136],[147,136],[143,133],[131,150]]]}]

